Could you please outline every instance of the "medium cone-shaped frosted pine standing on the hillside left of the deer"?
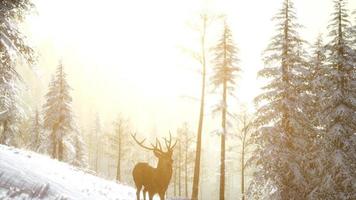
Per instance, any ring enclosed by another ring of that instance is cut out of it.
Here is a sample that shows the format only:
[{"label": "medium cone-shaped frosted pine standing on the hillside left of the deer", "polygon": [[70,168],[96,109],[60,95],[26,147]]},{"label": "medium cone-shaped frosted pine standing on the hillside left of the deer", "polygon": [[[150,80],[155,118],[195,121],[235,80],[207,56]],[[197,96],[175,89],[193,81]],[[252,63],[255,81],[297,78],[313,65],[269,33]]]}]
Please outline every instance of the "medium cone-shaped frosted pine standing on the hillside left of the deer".
[{"label": "medium cone-shaped frosted pine standing on the hillside left of the deer", "polygon": [[44,128],[49,133],[50,149],[48,152],[52,158],[64,160],[65,138],[76,131],[72,115],[71,90],[66,81],[66,74],[62,63],[59,63],[55,77],[52,79],[49,91],[46,94],[44,110]]}]

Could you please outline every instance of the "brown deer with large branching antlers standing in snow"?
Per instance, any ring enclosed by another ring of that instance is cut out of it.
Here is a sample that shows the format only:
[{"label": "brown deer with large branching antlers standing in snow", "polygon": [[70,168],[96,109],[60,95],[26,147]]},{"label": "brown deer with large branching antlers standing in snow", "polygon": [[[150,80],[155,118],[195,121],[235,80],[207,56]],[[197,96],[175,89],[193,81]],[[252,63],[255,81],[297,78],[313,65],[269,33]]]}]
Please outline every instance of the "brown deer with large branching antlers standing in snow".
[{"label": "brown deer with large branching antlers standing in snow", "polygon": [[149,200],[153,200],[153,196],[158,194],[161,200],[165,199],[166,190],[172,177],[173,159],[172,154],[177,141],[172,145],[172,135],[169,133],[169,140],[164,139],[166,151],[162,149],[161,142],[156,138],[156,144],[151,143],[151,147],[144,145],[146,140],[139,141],[136,138],[136,133],[131,134],[135,142],[144,149],[153,151],[153,154],[158,158],[157,167],[152,167],[148,163],[139,162],[135,165],[132,176],[136,185],[137,200],[140,199],[140,193],[143,187],[143,199],[146,200],[148,192]]}]

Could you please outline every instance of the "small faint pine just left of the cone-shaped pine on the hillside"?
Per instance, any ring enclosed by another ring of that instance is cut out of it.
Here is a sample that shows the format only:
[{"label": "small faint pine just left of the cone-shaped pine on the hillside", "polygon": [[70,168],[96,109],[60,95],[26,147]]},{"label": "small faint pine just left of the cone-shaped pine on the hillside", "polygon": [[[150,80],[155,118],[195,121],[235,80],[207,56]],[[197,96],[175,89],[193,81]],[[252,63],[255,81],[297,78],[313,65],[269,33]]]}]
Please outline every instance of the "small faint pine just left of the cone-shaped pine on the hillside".
[{"label": "small faint pine just left of the cone-shaped pine on the hillside", "polygon": [[36,109],[34,116],[31,117],[31,127],[28,130],[29,141],[27,148],[38,152],[40,145],[42,143],[43,135],[42,135],[42,122],[40,119],[40,114]]}]

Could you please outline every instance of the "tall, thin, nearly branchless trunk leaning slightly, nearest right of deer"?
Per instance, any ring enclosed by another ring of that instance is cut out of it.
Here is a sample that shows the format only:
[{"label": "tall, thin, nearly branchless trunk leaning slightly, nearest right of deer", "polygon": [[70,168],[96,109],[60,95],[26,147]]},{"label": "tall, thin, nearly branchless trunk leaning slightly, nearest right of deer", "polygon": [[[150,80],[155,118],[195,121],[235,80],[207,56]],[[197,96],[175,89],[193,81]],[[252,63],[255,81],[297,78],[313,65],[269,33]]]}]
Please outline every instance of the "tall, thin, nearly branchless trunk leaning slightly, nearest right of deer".
[{"label": "tall, thin, nearly branchless trunk leaning slightly, nearest right of deer", "polygon": [[204,120],[204,105],[205,105],[205,76],[206,76],[206,58],[205,58],[205,32],[206,32],[206,22],[207,16],[204,15],[203,18],[203,30],[201,37],[201,51],[202,51],[202,88],[200,97],[200,113],[199,113],[199,125],[197,133],[197,145],[195,153],[195,164],[194,164],[194,177],[193,177],[193,189],[192,189],[192,200],[198,200],[199,194],[199,177],[200,177],[200,156],[201,156],[201,140],[203,131],[203,120]]}]

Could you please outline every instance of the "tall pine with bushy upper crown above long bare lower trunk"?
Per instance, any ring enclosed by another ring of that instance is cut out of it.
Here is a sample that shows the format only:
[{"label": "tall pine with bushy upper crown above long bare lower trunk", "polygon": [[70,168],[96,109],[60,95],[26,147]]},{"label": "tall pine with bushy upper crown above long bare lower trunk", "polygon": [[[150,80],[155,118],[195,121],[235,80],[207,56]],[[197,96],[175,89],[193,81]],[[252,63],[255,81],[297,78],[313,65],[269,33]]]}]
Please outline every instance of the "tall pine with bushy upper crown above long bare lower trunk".
[{"label": "tall pine with bushy upper crown above long bare lower trunk", "polygon": [[219,199],[225,199],[225,151],[226,151],[226,134],[227,134],[227,97],[232,95],[236,85],[237,72],[240,68],[237,66],[237,48],[232,39],[232,32],[229,26],[224,22],[223,34],[217,45],[213,48],[214,63],[212,84],[216,89],[221,89],[222,99],[218,106],[221,111],[221,155],[220,155],[220,195]]}]

